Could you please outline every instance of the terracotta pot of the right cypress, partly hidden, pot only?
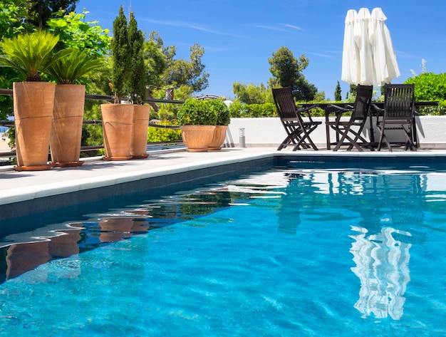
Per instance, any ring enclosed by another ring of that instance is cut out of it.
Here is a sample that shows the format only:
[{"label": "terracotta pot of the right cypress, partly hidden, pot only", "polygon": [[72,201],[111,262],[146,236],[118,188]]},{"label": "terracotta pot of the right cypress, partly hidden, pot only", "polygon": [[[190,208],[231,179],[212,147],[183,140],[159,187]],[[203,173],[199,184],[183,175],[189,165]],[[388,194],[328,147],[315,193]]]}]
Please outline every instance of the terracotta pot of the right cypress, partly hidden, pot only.
[{"label": "terracotta pot of the right cypress, partly hidden, pot only", "polygon": [[130,155],[133,159],[147,158],[147,129],[149,128],[150,105],[133,106],[133,140]]}]

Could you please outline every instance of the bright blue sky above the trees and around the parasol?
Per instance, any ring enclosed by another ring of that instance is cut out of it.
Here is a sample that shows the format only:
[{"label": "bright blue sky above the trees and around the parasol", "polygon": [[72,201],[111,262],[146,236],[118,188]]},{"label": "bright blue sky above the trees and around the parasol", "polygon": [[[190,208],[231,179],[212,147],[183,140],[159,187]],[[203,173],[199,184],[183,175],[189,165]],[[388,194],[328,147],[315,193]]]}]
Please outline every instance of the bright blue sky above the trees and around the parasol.
[{"label": "bright blue sky above the trees and around the parasol", "polygon": [[[138,27],[157,31],[165,46],[177,47],[177,58],[189,58],[190,46],[204,47],[202,63],[209,86],[202,93],[234,98],[232,83],[268,82],[268,58],[281,46],[310,63],[304,70],[308,82],[334,98],[339,81],[345,98],[348,83],[341,81],[344,20],[348,9],[375,7],[387,16],[403,83],[426,70],[446,72],[446,1],[358,0],[81,0],[88,21],[99,21],[112,31],[120,5],[135,12]],[[412,70],[412,71],[411,71]]]}]

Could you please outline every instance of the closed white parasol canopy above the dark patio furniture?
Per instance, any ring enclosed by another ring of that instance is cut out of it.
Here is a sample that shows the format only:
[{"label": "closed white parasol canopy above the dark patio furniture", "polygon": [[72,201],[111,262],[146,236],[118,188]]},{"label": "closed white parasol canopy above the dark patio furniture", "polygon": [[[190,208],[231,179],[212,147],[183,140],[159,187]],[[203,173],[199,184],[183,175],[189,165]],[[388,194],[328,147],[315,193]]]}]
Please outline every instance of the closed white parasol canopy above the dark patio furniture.
[{"label": "closed white parasol canopy above the dark patio furniture", "polygon": [[347,12],[341,80],[351,84],[383,85],[400,76],[383,11],[366,8]]}]

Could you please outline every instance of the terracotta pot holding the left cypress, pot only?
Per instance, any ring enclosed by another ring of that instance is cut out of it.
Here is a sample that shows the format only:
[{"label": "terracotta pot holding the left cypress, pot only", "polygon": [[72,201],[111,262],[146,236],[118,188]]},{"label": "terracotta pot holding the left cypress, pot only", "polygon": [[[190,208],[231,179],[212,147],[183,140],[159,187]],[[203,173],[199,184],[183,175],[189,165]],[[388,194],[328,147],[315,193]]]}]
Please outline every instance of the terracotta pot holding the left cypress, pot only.
[{"label": "terracotta pot holding the left cypress, pot only", "polygon": [[104,160],[129,160],[133,134],[133,104],[101,104]]}]

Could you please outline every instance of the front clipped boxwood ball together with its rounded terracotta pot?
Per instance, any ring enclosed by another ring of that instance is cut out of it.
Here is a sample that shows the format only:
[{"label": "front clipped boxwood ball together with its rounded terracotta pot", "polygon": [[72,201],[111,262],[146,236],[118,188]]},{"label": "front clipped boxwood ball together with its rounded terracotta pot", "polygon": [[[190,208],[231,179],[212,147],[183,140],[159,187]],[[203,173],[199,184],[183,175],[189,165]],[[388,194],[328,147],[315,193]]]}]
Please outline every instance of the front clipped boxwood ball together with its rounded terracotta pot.
[{"label": "front clipped boxwood ball together with its rounded terracotta pot", "polygon": [[177,113],[188,152],[206,152],[214,137],[217,111],[209,100],[188,98]]}]

